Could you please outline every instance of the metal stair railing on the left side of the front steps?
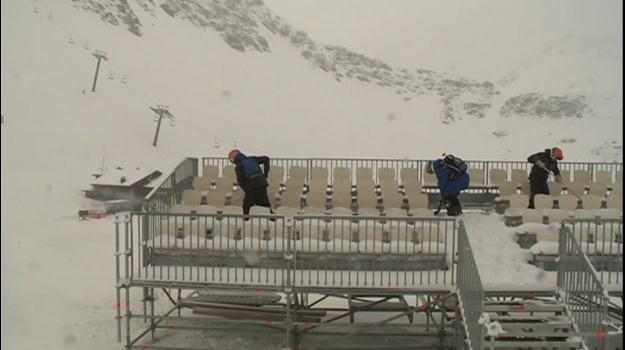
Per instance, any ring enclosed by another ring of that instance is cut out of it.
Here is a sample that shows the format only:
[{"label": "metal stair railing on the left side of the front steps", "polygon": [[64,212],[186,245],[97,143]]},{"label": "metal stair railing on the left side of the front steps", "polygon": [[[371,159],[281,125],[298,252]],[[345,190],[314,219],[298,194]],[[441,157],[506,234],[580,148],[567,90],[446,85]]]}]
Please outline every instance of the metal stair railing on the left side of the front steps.
[{"label": "metal stair railing on the left side of the front steps", "polygon": [[469,237],[460,221],[458,228],[458,298],[461,304],[462,319],[465,326],[469,349],[481,349],[484,339],[483,327],[479,319],[484,312],[484,287],[480,279],[477,263],[469,243]]}]

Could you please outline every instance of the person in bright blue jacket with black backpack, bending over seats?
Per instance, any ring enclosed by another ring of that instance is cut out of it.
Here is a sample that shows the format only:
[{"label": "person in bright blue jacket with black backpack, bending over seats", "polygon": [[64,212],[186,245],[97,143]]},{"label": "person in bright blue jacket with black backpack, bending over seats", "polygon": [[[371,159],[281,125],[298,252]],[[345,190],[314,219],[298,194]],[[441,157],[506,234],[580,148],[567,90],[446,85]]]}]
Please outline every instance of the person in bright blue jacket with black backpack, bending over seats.
[{"label": "person in bright blue jacket with black backpack, bending over seats", "polygon": [[[447,208],[447,215],[462,214],[462,205],[458,200],[458,195],[461,191],[469,188],[469,173],[449,167],[443,159],[428,162],[426,171],[430,174],[436,174],[438,188],[441,192],[441,205],[444,204]],[[439,210],[440,206],[435,214],[438,214]]]}]

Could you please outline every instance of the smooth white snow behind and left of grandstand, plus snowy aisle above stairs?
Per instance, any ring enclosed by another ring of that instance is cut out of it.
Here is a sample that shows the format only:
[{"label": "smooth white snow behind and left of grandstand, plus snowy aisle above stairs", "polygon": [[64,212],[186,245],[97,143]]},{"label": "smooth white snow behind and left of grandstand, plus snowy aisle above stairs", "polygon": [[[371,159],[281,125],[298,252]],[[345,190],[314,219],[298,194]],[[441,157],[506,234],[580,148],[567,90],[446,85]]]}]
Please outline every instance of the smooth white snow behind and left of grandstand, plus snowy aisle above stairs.
[{"label": "smooth white snow behind and left of grandstand, plus snowy aisle above stairs", "polygon": [[[214,33],[167,16],[146,19],[154,25],[139,39],[69,2],[37,1],[37,13],[33,2],[0,5],[3,349],[119,347],[113,218],[76,215],[93,204],[81,189],[103,164],[166,173],[183,157],[223,156],[235,144],[276,157],[429,158],[446,151],[522,159],[550,146],[552,130],[587,141],[567,148],[569,159],[622,157],[590,151],[606,135],[622,145],[622,101],[611,118],[489,116],[442,125],[424,117],[437,115],[437,98],[406,103],[375,86],[335,84],[279,40],[271,55],[241,54]],[[95,49],[110,59],[91,93]],[[157,104],[170,106],[176,126],[165,125],[152,147],[148,107]],[[501,128],[523,132],[503,140],[482,132]],[[463,141],[441,145],[442,133]],[[485,285],[553,287],[553,274],[525,262],[527,251],[499,216],[464,219]]]}]

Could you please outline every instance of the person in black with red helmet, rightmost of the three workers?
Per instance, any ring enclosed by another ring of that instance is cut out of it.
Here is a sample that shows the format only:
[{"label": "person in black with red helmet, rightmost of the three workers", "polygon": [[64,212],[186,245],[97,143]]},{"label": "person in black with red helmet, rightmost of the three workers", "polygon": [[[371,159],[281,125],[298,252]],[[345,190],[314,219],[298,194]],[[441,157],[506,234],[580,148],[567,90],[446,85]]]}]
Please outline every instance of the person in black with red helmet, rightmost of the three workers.
[{"label": "person in black with red helmet, rightmost of the three workers", "polygon": [[562,182],[558,161],[564,159],[564,153],[558,147],[546,149],[543,152],[532,154],[527,161],[534,164],[530,171],[530,202],[528,208],[534,209],[534,197],[537,194],[549,194],[549,173],[553,172],[555,180]]}]

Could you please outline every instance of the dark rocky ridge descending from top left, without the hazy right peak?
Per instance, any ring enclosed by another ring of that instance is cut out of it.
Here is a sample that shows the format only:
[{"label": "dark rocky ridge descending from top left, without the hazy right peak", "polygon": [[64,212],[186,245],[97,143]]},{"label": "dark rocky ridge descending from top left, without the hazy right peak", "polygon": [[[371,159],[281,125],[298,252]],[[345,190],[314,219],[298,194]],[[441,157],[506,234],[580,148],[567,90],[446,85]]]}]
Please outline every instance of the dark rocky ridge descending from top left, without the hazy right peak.
[{"label": "dark rocky ridge descending from top left, without the hazy right peak", "polygon": [[[145,11],[158,18],[166,13],[198,28],[214,31],[231,48],[241,52],[269,53],[273,46],[270,41],[282,40],[297,48],[303,58],[337,81],[351,79],[388,87],[403,96],[405,101],[424,94],[441,96],[444,101],[441,119],[446,123],[457,119],[458,112],[454,113],[452,103],[462,105],[476,98],[488,99],[497,93],[490,82],[454,78],[425,69],[394,68],[344,47],[315,42],[306,32],[297,30],[275,15],[261,0],[162,1],[148,5],[138,2],[141,6],[137,11],[132,9],[132,5],[136,5],[134,2],[113,5],[113,2],[101,1],[95,3],[96,6],[91,1],[74,0],[74,4],[109,24],[126,27],[137,36],[142,35],[142,24],[135,13]],[[458,102],[456,100],[460,95],[463,96]]]}]

